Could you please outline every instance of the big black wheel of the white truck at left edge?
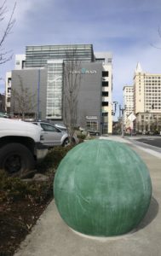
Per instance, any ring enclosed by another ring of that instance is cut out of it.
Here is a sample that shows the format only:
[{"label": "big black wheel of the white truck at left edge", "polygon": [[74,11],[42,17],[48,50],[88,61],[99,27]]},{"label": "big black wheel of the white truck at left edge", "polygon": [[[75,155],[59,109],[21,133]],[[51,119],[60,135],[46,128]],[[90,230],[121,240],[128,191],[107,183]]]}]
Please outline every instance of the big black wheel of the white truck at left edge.
[{"label": "big black wheel of the white truck at left edge", "polygon": [[33,170],[34,158],[28,148],[20,143],[9,143],[0,148],[0,169],[10,175]]}]

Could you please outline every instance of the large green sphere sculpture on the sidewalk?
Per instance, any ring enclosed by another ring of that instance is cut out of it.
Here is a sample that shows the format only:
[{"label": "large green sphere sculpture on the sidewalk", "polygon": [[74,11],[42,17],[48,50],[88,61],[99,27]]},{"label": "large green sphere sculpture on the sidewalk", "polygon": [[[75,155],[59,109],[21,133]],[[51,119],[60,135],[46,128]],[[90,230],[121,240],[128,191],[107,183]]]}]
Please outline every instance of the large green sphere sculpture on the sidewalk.
[{"label": "large green sphere sculpture on the sidewalk", "polygon": [[72,148],[60,162],[55,203],[73,230],[118,236],[145,216],[152,195],[147,166],[124,143],[92,140]]}]

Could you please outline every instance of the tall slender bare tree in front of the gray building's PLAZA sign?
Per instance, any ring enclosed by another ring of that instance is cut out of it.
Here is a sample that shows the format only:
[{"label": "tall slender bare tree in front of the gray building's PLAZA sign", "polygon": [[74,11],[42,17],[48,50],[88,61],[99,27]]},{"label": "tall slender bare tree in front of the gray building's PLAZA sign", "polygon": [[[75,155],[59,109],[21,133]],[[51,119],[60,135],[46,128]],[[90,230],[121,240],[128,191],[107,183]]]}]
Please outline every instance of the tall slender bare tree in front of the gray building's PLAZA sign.
[{"label": "tall slender bare tree in front of the gray building's PLAZA sign", "polygon": [[64,122],[68,129],[70,143],[77,125],[78,117],[78,93],[81,82],[81,61],[78,60],[77,48],[66,50],[64,69]]}]

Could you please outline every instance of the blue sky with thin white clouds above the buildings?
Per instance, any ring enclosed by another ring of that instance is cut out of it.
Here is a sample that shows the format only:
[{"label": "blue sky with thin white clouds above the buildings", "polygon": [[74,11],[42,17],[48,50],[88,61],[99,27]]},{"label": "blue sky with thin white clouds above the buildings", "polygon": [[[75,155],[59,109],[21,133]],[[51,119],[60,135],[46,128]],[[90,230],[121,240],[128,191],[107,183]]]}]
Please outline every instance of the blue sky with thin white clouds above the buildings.
[{"label": "blue sky with thin white clouds above the buildings", "polygon": [[[3,0],[0,0],[3,3]],[[0,22],[0,38],[14,0]],[[93,44],[112,52],[112,100],[123,104],[124,85],[132,85],[137,62],[147,73],[161,73],[160,0],[17,0],[14,27],[5,40],[11,61],[0,66],[0,92],[5,73],[14,69],[14,55],[26,45]],[[160,49],[159,49],[160,48]]]}]

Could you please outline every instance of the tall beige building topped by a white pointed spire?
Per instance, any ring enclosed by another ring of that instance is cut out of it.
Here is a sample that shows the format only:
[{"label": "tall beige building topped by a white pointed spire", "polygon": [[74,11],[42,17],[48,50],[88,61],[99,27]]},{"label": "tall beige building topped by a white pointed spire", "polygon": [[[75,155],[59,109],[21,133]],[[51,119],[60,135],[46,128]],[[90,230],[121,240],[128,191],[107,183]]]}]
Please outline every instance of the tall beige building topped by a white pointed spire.
[{"label": "tall beige building topped by a white pointed spire", "polygon": [[145,73],[138,63],[134,75],[135,130],[161,130],[161,73]]}]

